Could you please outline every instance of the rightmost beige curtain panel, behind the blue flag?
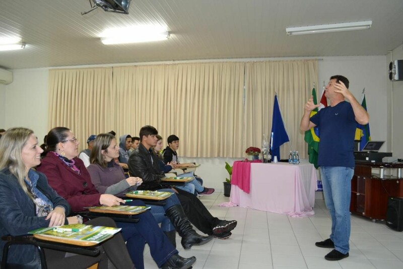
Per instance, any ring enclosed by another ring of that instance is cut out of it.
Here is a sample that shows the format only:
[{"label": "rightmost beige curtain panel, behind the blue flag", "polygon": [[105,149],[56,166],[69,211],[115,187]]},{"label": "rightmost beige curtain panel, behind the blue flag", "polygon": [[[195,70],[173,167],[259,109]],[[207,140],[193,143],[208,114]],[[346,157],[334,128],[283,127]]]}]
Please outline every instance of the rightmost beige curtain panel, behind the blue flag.
[{"label": "rightmost beige curtain panel, behind the blue flag", "polygon": [[[275,93],[279,100],[293,149],[300,158],[307,157],[304,133],[299,130],[304,105],[318,81],[317,60],[259,61],[245,64],[244,148],[261,147],[262,134],[270,138]],[[288,158],[290,143],[280,148],[282,159]]]}]

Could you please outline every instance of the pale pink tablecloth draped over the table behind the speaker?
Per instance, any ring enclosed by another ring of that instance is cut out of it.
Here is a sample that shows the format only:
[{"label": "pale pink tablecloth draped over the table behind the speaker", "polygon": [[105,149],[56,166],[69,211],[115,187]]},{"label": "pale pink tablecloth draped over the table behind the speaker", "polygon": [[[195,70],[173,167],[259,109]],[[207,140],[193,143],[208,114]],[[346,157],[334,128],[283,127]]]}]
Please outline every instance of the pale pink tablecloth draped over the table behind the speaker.
[{"label": "pale pink tablecloth draped over the table behind the speaker", "polygon": [[315,214],[312,208],[316,188],[316,171],[312,164],[252,163],[250,192],[232,185],[230,201],[243,208],[293,217],[311,216]]}]

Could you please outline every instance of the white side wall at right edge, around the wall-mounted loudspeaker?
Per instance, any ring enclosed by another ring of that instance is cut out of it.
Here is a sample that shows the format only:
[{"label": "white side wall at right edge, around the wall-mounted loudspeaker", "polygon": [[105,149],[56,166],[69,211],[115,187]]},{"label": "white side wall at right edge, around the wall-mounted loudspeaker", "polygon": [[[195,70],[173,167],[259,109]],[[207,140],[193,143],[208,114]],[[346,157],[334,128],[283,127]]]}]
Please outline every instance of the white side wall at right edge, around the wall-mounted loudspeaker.
[{"label": "white side wall at right edge, around the wall-mounted loudspeaker", "polygon": [[[403,45],[395,48],[391,55],[393,60],[403,60]],[[390,55],[387,64],[389,61]],[[393,156],[403,159],[403,81],[388,82],[388,91],[392,106]]]}]

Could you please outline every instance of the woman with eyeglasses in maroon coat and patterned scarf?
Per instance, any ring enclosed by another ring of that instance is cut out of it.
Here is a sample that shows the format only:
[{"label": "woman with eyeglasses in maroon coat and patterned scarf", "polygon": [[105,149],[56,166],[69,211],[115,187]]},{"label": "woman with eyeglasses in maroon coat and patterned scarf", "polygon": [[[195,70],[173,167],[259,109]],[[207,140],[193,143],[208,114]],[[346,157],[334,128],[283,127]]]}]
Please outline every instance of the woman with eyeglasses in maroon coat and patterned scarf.
[{"label": "woman with eyeglasses in maroon coat and patterned scarf", "polygon": [[[93,206],[125,203],[119,197],[101,194],[96,190],[83,161],[78,158],[79,142],[69,128],[51,129],[46,144],[46,156],[37,169],[47,176],[49,185],[68,201],[73,212]],[[145,206],[142,201],[132,205]],[[122,236],[136,268],[144,268],[143,250],[146,242],[158,267],[186,269],[196,261],[195,257],[183,258],[178,255],[149,211],[136,217],[139,218],[138,223],[116,222],[117,227],[122,228]]]}]

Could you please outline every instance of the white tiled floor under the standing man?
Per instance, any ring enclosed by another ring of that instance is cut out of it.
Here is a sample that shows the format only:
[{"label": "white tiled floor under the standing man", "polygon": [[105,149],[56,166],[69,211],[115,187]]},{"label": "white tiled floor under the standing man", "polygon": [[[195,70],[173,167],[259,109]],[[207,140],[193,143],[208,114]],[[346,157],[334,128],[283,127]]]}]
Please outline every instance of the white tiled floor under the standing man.
[{"label": "white tiled floor under the standing man", "polygon": [[[179,248],[184,257],[197,258],[193,268],[204,269],[397,269],[403,268],[403,233],[390,230],[384,222],[352,215],[350,257],[327,261],[323,256],[330,251],[315,246],[316,241],[328,238],[330,217],[323,200],[315,201],[315,215],[309,218],[291,218],[286,215],[244,208],[218,207],[229,201],[222,193],[202,196],[201,201],[213,216],[238,221],[232,236],[226,240],[213,239],[204,246],[191,250]],[[146,249],[145,267],[157,268]]]}]

